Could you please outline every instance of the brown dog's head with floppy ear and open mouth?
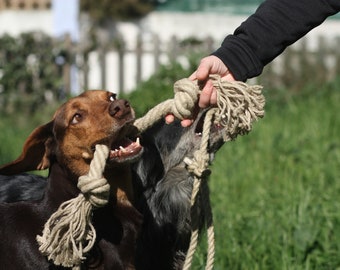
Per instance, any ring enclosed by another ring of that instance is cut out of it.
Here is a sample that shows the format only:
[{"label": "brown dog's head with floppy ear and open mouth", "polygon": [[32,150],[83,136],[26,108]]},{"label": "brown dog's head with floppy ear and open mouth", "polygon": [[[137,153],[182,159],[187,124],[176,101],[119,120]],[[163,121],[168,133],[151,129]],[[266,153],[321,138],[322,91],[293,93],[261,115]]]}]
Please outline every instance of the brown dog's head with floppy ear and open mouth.
[{"label": "brown dog's head with floppy ear and open mouth", "polygon": [[142,149],[128,138],[134,118],[128,101],[108,91],[86,91],[63,104],[52,121],[36,128],[19,158],[0,167],[0,174],[43,170],[57,161],[80,176],[88,172],[96,144],[112,149],[109,162],[134,159]]}]

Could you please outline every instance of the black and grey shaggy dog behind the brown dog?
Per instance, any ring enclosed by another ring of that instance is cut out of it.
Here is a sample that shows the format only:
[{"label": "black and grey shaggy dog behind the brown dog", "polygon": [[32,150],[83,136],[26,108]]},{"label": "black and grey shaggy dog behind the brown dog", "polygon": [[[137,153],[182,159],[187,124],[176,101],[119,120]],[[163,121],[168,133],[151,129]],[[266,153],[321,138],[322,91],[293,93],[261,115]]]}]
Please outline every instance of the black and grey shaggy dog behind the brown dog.
[{"label": "black and grey shaggy dog behind the brown dog", "polygon": [[[200,147],[205,113],[200,112],[189,128],[183,128],[179,121],[168,125],[160,120],[141,134],[144,153],[132,165],[135,207],[144,220],[137,243],[136,269],[182,269],[190,241],[193,184],[183,160],[192,158]],[[211,160],[222,145],[221,130],[212,125]],[[45,186],[46,180],[41,176],[0,176],[0,202],[39,199]],[[202,216],[202,222],[203,219]]]}]

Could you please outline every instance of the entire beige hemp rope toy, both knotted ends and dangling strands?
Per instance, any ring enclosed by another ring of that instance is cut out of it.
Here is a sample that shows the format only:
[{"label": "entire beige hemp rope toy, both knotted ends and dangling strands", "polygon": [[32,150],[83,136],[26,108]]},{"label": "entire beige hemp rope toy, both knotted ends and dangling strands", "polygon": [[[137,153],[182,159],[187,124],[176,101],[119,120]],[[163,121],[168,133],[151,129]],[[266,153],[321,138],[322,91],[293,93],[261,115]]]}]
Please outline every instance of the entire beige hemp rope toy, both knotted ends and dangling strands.
[{"label": "entire beige hemp rope toy, both knotted ends and dangling strands", "polygon": [[[221,81],[219,77],[211,77],[217,88],[218,108],[211,109],[207,116],[215,118],[224,128],[223,138],[228,141],[238,134],[251,130],[252,122],[264,115],[264,97],[260,86],[248,86],[242,82]],[[160,103],[151,109],[144,117],[135,121],[140,132],[152,126],[169,112],[177,118],[190,118],[200,94],[199,85],[189,79],[182,79],[174,84],[175,97]],[[206,116],[206,117],[207,117]],[[213,116],[213,117],[212,117]],[[201,177],[208,171],[209,155],[208,140],[211,119],[205,121],[201,141],[201,149],[194,154],[194,160],[185,159],[187,168],[195,175],[191,205],[195,203],[196,195],[201,186]],[[207,131],[205,131],[207,130]],[[78,179],[78,188],[82,193],[78,197],[64,202],[46,222],[42,236],[37,236],[39,250],[56,265],[80,269],[84,254],[93,246],[96,238],[95,229],[91,223],[92,210],[104,206],[108,201],[109,189],[102,173],[105,167],[109,149],[105,145],[96,145],[94,158],[90,164],[88,175]],[[208,255],[206,269],[212,269],[214,260],[214,231],[212,212],[207,192],[207,183],[203,181],[202,197],[207,204],[204,206],[208,227]],[[204,188],[206,186],[206,188]],[[198,228],[192,214],[192,228]],[[196,220],[197,221],[197,220]],[[191,243],[185,262],[189,269],[198,242],[198,230],[192,230]]]}]

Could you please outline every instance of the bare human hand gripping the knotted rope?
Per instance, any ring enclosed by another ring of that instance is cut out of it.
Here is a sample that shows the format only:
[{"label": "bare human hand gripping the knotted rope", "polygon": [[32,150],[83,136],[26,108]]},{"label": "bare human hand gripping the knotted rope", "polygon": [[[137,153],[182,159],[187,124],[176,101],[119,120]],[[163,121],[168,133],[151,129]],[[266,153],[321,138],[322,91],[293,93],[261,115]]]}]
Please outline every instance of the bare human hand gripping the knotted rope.
[{"label": "bare human hand gripping the knotted rope", "polygon": [[[191,74],[190,80],[198,80],[203,83],[202,92],[199,97],[198,106],[200,108],[206,108],[210,105],[217,103],[217,93],[213,86],[212,80],[209,79],[209,75],[217,74],[221,76],[222,80],[235,81],[234,76],[229,72],[228,67],[217,56],[210,55],[202,58],[197,70]],[[166,123],[172,123],[175,120],[173,114],[168,114],[165,117]],[[192,119],[183,119],[181,125],[188,127],[192,124]]]}]

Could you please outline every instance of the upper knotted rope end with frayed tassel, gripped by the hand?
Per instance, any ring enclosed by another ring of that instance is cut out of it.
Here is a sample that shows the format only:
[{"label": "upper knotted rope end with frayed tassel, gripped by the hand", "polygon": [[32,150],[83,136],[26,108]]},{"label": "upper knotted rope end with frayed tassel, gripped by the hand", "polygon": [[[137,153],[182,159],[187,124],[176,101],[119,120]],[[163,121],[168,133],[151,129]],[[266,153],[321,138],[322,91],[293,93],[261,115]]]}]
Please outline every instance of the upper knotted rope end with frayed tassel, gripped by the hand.
[{"label": "upper knotted rope end with frayed tassel, gripped by the hand", "polygon": [[[252,129],[252,122],[264,116],[265,99],[262,87],[249,86],[243,82],[222,81],[219,76],[211,75],[217,89],[215,119],[225,128],[224,141],[232,140],[237,135],[244,135]],[[174,99],[168,99],[149,110],[135,121],[140,132],[151,127],[156,121],[173,113],[179,119],[190,118],[201,93],[198,82],[187,78],[174,84]]]}]

